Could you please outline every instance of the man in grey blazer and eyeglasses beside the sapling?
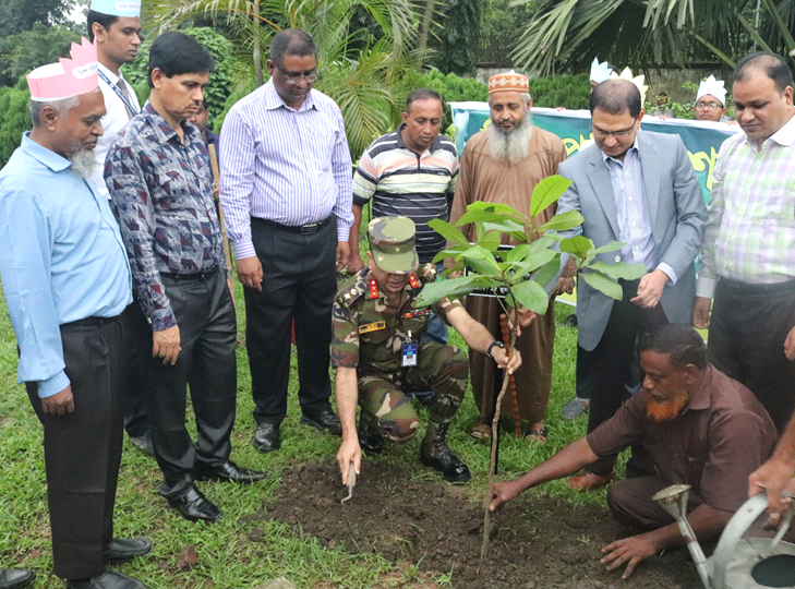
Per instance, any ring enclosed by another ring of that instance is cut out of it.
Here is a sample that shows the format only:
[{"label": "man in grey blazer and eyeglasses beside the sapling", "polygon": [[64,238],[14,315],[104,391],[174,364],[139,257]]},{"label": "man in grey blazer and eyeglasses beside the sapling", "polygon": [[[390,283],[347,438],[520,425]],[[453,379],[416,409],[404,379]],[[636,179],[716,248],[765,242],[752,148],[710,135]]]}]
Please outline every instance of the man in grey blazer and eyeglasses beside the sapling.
[{"label": "man in grey blazer and eyeglasses beside the sapling", "polygon": [[[639,280],[621,280],[624,297],[614,301],[577,285],[578,353],[589,354],[593,394],[588,432],[621,407],[638,334],[665,323],[688,323],[696,297],[694,260],[701,245],[707,208],[701,189],[678,135],[640,130],[640,92],[627,80],[609,80],[591,94],[594,145],[561,164],[571,185],[558,201],[557,214],[579,211],[580,232],[598,248],[611,241],[621,251],[598,261],[643,264]],[[640,448],[627,465],[628,476],[647,473]],[[587,491],[610,482],[615,457],[602,458],[569,485]]]}]

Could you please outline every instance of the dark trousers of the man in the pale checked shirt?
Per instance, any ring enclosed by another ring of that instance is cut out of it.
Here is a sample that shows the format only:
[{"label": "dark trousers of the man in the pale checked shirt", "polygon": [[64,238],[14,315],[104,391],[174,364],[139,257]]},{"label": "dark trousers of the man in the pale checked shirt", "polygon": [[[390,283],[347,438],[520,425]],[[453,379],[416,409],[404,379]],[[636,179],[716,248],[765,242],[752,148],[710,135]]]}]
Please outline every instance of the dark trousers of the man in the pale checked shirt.
[{"label": "dark trousers of the man in the pale checked shirt", "polygon": [[795,362],[784,356],[794,325],[795,281],[718,280],[707,345],[710,362],[754,392],[779,433],[795,407]]}]

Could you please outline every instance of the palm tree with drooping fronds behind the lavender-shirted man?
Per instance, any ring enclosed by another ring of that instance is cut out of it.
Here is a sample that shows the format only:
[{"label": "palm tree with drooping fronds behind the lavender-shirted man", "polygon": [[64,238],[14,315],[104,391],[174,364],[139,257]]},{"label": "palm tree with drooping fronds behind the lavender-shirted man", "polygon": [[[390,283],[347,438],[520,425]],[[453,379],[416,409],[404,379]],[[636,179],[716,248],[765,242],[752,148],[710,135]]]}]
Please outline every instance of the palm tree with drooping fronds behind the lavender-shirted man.
[{"label": "palm tree with drooping fronds behind the lavender-shirted man", "polygon": [[[366,15],[372,28],[354,26]],[[411,0],[156,0],[144,3],[155,33],[177,28],[195,16],[226,16],[229,36],[248,48],[256,86],[265,79],[262,48],[284,28],[301,28],[317,44],[321,72],[315,86],[340,107],[351,155],[399,120],[403,75],[422,61],[418,20]],[[253,89],[253,84],[244,84]]]}]

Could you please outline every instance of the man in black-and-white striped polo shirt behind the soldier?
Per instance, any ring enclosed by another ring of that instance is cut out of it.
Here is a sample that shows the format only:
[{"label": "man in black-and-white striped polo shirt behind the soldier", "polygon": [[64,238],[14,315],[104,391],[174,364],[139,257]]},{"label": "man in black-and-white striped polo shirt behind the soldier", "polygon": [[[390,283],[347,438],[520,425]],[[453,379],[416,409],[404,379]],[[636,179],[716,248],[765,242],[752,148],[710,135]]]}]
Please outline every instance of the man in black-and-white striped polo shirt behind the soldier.
[{"label": "man in black-and-white striped polo shirt behind the soldier", "polygon": [[[427,226],[431,219],[449,218],[449,204],[458,178],[458,152],[439,135],[444,110],[438,93],[420,88],[406,98],[403,122],[375,140],[362,155],[353,175],[353,225],[350,230],[348,271],[364,267],[359,252],[362,207],[373,201],[373,217],[409,217],[417,226],[420,264],[444,250],[445,239]],[[442,269],[439,266],[437,269]],[[429,323],[431,340],[447,344],[447,326],[437,317]]]}]

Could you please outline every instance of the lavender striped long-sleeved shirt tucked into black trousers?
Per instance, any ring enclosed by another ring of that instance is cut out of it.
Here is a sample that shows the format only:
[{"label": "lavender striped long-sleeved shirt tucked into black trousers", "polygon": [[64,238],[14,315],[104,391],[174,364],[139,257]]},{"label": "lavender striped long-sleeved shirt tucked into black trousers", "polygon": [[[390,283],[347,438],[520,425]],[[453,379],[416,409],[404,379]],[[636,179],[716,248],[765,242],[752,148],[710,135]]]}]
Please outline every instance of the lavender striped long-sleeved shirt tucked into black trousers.
[{"label": "lavender striped long-sleeved shirt tucked into black trousers", "polygon": [[339,107],[312,89],[289,108],[273,80],[239,100],[220,135],[220,202],[238,259],[256,255],[251,217],[301,226],[337,217],[348,241],[351,168]]}]

